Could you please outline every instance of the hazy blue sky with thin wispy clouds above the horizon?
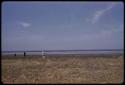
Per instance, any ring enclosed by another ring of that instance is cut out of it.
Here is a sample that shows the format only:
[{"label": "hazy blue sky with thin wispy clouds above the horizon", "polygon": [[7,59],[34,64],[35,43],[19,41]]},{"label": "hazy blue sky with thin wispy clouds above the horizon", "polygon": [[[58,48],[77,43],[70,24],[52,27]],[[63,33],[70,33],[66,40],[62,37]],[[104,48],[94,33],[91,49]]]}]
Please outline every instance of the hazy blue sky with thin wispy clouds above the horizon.
[{"label": "hazy blue sky with thin wispy clouds above the horizon", "polygon": [[123,2],[2,3],[2,50],[123,49]]}]

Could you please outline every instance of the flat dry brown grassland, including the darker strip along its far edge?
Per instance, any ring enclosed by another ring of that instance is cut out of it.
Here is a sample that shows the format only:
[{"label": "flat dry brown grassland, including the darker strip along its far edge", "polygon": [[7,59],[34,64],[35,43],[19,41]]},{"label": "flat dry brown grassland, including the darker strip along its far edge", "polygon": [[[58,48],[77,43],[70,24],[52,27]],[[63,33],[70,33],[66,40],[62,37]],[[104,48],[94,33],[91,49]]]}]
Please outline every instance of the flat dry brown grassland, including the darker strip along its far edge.
[{"label": "flat dry brown grassland, including the darker strip along its far edge", "polygon": [[123,55],[2,56],[2,82],[122,83]]}]

